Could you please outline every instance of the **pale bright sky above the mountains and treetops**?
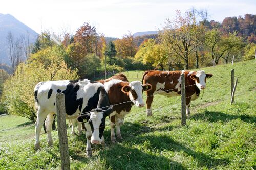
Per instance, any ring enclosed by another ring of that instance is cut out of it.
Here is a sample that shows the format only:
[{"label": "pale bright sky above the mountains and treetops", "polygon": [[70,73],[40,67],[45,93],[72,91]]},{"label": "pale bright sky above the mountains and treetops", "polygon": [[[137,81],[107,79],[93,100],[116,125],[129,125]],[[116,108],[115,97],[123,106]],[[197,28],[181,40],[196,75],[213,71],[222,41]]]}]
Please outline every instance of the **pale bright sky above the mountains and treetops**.
[{"label": "pale bright sky above the mountains and treetops", "polygon": [[121,37],[128,31],[154,31],[161,29],[166,18],[173,19],[175,10],[206,9],[209,19],[222,21],[226,16],[255,14],[256,1],[166,1],[166,0],[4,0],[0,13],[11,14],[40,33],[74,33],[83,22],[90,22],[97,32],[105,36]]}]

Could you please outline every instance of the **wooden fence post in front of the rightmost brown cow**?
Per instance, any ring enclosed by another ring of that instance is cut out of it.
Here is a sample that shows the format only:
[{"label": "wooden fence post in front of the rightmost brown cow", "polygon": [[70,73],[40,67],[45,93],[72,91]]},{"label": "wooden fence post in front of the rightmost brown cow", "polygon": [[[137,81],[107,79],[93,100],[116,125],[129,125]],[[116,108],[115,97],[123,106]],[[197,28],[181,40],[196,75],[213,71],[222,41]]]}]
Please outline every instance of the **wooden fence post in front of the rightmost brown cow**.
[{"label": "wooden fence post in front of the rightmost brown cow", "polygon": [[185,75],[181,74],[181,125],[186,124],[186,89]]}]

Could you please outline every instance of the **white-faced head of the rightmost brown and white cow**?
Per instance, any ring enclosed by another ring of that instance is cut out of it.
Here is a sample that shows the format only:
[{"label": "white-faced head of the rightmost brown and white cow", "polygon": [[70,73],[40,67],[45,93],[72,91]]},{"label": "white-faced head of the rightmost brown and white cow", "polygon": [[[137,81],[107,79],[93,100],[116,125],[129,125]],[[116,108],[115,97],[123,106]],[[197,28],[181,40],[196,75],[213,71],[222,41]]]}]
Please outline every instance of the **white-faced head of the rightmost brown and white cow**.
[{"label": "white-faced head of the rightmost brown and white cow", "polygon": [[197,71],[190,76],[191,79],[195,80],[195,83],[199,90],[203,90],[206,87],[206,78],[211,78],[212,74],[205,74],[204,71]]}]

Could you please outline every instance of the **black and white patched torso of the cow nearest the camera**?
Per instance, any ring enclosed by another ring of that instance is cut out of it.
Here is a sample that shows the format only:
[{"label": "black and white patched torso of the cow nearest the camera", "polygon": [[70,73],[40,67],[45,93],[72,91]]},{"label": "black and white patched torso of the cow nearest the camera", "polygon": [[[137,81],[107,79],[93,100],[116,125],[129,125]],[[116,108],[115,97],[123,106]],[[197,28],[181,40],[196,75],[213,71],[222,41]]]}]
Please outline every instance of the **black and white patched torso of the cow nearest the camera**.
[{"label": "black and white patched torso of the cow nearest the camera", "polygon": [[48,81],[35,87],[35,99],[48,112],[56,112],[56,94],[64,93],[66,113],[79,114],[97,108],[101,88],[103,84],[87,79]]}]

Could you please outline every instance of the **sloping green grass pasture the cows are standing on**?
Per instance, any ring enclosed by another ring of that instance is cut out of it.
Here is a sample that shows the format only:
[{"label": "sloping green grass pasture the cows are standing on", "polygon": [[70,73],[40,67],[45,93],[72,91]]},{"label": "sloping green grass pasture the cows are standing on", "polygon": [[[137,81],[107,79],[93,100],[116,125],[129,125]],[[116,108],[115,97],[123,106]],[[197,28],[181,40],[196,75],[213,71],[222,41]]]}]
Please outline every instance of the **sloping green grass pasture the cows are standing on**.
[{"label": "sloping green grass pasture the cows are standing on", "polygon": [[[239,83],[230,105],[232,68]],[[84,133],[69,137],[71,168],[256,169],[255,68],[254,61],[205,68],[214,76],[207,80],[203,98],[193,101],[184,127],[180,125],[181,98],[156,95],[152,117],[146,117],[145,108],[134,106],[121,127],[123,140],[112,144],[107,126],[107,147],[93,145],[92,158],[86,157]],[[125,74],[129,81],[141,80],[143,71]],[[0,122],[1,156],[33,147],[34,126],[28,120],[11,115],[0,117]],[[57,137],[54,131],[53,138]],[[47,135],[42,134],[41,143],[45,143],[40,151],[30,148],[0,158],[0,169],[60,169],[58,140],[53,147],[46,141]]]}]

